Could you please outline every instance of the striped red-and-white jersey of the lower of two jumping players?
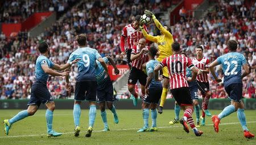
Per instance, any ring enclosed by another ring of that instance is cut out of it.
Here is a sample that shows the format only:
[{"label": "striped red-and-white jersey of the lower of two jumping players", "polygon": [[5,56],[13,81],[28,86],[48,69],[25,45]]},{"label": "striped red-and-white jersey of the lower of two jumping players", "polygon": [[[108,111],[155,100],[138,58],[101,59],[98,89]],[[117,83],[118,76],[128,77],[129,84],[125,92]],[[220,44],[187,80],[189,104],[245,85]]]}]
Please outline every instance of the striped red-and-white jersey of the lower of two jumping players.
[{"label": "striped red-and-white jersey of the lower of two jumping players", "polygon": [[[148,46],[145,46],[144,48],[149,49]],[[138,54],[141,52],[141,49],[139,49],[139,45],[134,45],[133,49],[131,50],[131,54]],[[134,61],[131,62],[131,67],[136,67],[139,70],[142,70],[142,65],[143,63],[148,61],[148,56],[147,53],[143,53],[141,54],[140,57],[138,57],[137,59],[135,59]]]}]

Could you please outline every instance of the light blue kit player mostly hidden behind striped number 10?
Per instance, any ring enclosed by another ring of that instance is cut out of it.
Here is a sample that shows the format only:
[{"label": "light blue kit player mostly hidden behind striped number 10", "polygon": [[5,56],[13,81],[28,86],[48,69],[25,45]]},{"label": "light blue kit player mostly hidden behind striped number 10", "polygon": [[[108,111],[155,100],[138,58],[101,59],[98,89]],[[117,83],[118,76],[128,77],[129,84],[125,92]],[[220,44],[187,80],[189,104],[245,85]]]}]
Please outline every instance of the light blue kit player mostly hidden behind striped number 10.
[{"label": "light blue kit player mostly hidden behind striped number 10", "polygon": [[[180,53],[183,54],[184,56],[187,57],[187,54],[184,52]],[[192,78],[192,72],[190,69],[186,69],[186,75],[188,80]],[[196,74],[194,74],[196,76]],[[200,106],[198,104],[198,87],[197,87],[197,82],[196,80],[193,80],[192,82],[188,81],[188,86],[190,90],[190,95],[193,100],[193,105],[196,111],[196,127],[200,127]],[[177,102],[175,101],[175,106],[174,106],[174,112],[175,112],[175,118],[174,120],[170,121],[170,125],[174,125],[175,123],[179,123],[179,114],[180,114],[180,106],[177,105]]]}]

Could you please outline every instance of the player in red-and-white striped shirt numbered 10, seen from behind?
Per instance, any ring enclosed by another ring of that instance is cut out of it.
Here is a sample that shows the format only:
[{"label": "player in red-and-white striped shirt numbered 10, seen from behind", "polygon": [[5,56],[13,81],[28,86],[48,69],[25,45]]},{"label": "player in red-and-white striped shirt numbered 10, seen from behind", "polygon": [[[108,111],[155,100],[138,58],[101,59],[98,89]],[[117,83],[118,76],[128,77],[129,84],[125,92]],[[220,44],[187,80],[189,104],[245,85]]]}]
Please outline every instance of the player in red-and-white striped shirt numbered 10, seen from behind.
[{"label": "player in red-and-white striped shirt numbered 10, seen from behind", "polygon": [[[155,80],[159,80],[158,71],[167,66],[170,76],[171,93],[177,104],[184,110],[184,115],[180,123],[183,125],[183,129],[189,133],[188,122],[196,136],[200,136],[203,134],[203,131],[197,130],[193,123],[193,101],[187,83],[186,67],[196,74],[201,74],[201,71],[193,65],[191,59],[180,54],[180,44],[178,42],[172,44],[172,52],[172,56],[164,58],[163,61],[155,67]],[[188,81],[191,82],[195,79],[196,75],[192,75],[192,79]]]}]

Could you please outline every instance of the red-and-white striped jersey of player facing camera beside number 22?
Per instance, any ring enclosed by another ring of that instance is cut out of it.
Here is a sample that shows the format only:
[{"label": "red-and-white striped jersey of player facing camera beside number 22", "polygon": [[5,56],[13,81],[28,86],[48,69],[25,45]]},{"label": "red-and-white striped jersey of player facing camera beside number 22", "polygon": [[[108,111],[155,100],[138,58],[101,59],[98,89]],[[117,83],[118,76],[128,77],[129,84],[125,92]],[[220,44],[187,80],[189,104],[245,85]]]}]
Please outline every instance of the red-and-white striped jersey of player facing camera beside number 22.
[{"label": "red-and-white striped jersey of player facing camera beside number 22", "polygon": [[[201,60],[197,60],[196,58],[192,59],[192,63],[201,70],[205,70],[209,68],[210,60],[208,58],[203,57]],[[200,74],[196,76],[196,80],[199,82],[209,82],[208,81],[208,74]]]}]

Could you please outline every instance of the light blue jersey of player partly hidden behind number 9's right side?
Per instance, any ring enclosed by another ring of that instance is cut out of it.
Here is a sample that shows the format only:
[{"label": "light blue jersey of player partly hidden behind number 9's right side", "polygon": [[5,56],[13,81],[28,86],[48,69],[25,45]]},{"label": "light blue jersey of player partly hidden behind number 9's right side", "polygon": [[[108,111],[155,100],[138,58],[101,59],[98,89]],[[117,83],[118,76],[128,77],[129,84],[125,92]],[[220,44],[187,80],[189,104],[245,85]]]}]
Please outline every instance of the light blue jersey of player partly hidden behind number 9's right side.
[{"label": "light blue jersey of player partly hidden behind number 9's right side", "polygon": [[[107,57],[104,57],[103,59],[105,63],[109,62],[109,59]],[[97,81],[97,84],[103,84],[104,82],[106,82],[106,80],[108,80],[107,79],[108,75],[106,74],[106,71],[104,70],[101,63],[99,61],[96,61],[96,63],[97,63],[96,72],[95,72],[96,81]]]}]

